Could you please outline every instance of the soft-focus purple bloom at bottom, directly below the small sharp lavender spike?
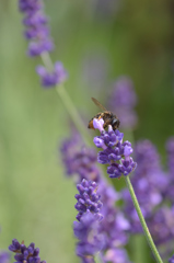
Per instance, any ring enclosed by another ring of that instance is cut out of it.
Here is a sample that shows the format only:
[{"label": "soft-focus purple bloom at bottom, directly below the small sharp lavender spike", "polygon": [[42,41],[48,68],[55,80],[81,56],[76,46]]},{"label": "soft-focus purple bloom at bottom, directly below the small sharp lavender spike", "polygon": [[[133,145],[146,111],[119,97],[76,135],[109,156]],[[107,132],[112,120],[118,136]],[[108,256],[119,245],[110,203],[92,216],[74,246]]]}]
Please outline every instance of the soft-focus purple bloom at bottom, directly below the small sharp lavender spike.
[{"label": "soft-focus purple bloom at bottom, directly below the small sharp lavender spike", "polygon": [[82,215],[80,221],[73,222],[73,232],[79,239],[77,255],[82,258],[83,262],[93,262],[93,256],[104,247],[104,237],[98,233],[98,227],[96,216],[90,210]]}]

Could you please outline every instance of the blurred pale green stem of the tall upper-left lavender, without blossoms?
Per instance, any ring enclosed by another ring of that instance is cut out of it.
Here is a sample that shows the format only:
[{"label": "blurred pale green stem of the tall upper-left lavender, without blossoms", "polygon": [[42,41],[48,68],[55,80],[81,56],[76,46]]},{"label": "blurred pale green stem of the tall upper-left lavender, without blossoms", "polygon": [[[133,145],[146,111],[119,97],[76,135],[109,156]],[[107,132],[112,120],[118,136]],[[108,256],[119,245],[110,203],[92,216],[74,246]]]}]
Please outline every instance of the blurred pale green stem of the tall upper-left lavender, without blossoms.
[{"label": "blurred pale green stem of the tall upper-left lavender, without blossoms", "polygon": [[[42,60],[47,68],[48,71],[54,70],[54,65],[50,59],[50,56],[48,53],[42,54]],[[71,101],[71,98],[69,96],[68,92],[66,91],[63,84],[58,84],[56,87],[56,91],[59,94],[59,98],[61,99],[67,112],[69,113],[76,128],[79,130],[81,136],[83,137],[83,140],[85,141],[86,145],[91,145],[91,139],[89,136],[89,133],[86,132],[86,127],[84,126],[84,123],[81,119],[81,116],[79,112],[77,111],[73,102]]]}]

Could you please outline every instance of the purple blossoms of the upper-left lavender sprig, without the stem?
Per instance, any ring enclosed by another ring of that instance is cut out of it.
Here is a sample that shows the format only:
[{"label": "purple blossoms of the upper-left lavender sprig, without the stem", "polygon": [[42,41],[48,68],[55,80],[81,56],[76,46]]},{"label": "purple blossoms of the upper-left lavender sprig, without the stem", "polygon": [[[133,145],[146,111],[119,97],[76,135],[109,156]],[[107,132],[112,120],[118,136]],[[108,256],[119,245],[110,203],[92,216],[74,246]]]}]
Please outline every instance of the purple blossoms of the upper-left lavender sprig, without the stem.
[{"label": "purple blossoms of the upper-left lavender sprig, without the stem", "polygon": [[[19,8],[24,13],[23,24],[26,27],[24,35],[30,41],[28,56],[42,56],[51,52],[54,43],[47,25],[48,19],[44,14],[43,0],[19,0]],[[46,88],[55,87],[67,79],[67,72],[59,61],[55,64],[51,71],[43,66],[38,66],[36,71],[40,77],[42,85]]]}]

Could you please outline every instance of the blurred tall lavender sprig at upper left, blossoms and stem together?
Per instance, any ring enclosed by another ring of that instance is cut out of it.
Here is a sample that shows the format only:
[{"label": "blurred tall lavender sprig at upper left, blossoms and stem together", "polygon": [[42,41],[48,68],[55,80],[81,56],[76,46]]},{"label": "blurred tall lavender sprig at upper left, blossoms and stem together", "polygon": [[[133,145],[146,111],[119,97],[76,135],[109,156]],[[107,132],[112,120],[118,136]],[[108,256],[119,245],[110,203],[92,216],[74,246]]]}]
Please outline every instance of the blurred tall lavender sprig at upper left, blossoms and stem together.
[{"label": "blurred tall lavender sprig at upper left, blossoms and stem together", "polygon": [[57,87],[56,91],[77,129],[81,133],[84,140],[88,141],[89,135],[83,122],[79,117],[76,106],[62,85],[62,82],[67,79],[67,71],[60,61],[54,65],[49,56],[55,45],[50,37],[48,18],[44,13],[43,0],[19,0],[19,9],[24,14],[24,36],[30,41],[27,55],[30,57],[40,56],[44,62],[44,66],[36,67],[36,72],[40,77],[42,85],[45,88]]}]

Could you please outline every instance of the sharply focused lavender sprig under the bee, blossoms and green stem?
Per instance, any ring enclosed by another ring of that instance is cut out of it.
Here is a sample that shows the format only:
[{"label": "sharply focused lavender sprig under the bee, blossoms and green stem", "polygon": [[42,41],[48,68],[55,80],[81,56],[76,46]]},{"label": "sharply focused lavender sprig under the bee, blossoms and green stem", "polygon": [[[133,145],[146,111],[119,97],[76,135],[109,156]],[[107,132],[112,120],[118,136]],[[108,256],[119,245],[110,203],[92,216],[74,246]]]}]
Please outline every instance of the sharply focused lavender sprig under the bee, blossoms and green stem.
[{"label": "sharply focused lavender sprig under the bee, blossoms and green stem", "polygon": [[[136,169],[136,162],[134,162],[132,158],[130,158],[130,153],[132,152],[131,144],[126,141],[123,144],[123,135],[116,130],[114,132],[112,126],[108,125],[108,132],[105,132],[103,128],[104,121],[94,118],[93,126],[95,129],[101,132],[101,136],[94,138],[94,144],[98,148],[103,148],[104,159],[101,160],[102,152],[98,152],[98,162],[105,164],[108,163],[107,173],[111,178],[119,178],[125,175],[125,181],[127,187],[129,190],[130,196],[132,198],[135,208],[139,216],[143,232],[146,235],[147,241],[152,250],[152,253],[156,260],[156,262],[162,263],[162,259],[159,254],[159,251],[155,248],[155,244],[151,238],[148,226],[144,221],[143,215],[141,213],[138,199],[134,192],[132,185],[130,183],[128,174],[130,174]],[[121,157],[125,157],[123,159]],[[120,161],[119,163],[117,161]]]}]

